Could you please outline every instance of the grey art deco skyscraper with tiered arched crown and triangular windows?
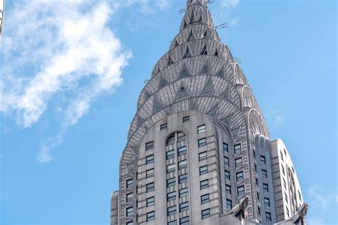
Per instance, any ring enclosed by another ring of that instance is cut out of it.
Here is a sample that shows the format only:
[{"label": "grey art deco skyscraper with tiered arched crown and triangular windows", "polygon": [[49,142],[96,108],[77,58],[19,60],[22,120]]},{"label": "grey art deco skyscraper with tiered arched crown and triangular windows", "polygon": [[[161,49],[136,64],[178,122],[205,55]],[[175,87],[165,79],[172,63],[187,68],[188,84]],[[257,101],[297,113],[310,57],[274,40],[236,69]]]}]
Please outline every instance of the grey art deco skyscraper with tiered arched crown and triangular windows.
[{"label": "grey art deco skyscraper with tiered arched crown and triangular windows", "polygon": [[270,139],[206,1],[188,0],[140,93],[111,224],[304,224],[306,212],[287,148]]}]

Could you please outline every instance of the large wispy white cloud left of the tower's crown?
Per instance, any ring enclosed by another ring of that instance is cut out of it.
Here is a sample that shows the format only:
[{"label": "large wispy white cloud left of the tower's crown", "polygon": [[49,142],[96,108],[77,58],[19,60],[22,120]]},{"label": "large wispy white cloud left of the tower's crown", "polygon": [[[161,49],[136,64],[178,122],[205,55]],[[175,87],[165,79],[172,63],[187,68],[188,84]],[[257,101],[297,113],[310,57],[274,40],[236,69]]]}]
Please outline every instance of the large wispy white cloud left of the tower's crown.
[{"label": "large wispy white cloud left of the tower's crown", "polygon": [[[108,27],[112,13],[106,1],[16,2],[4,24],[0,112],[30,127],[58,99],[66,130],[93,100],[111,93],[131,57]],[[50,162],[63,133],[41,147],[40,162]]]}]

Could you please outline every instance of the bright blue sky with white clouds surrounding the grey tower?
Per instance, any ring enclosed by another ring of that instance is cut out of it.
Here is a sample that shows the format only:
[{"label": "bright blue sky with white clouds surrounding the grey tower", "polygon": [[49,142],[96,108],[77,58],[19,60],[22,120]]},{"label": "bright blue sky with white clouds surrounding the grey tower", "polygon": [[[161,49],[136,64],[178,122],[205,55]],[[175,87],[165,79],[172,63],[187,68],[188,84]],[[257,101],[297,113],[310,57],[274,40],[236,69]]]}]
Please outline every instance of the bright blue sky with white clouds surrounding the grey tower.
[{"label": "bright blue sky with white clouds surrounding the grey tower", "polygon": [[[185,1],[8,1],[0,55],[0,224],[108,224],[144,80]],[[337,224],[337,3],[217,0],[273,139],[309,202]]]}]

